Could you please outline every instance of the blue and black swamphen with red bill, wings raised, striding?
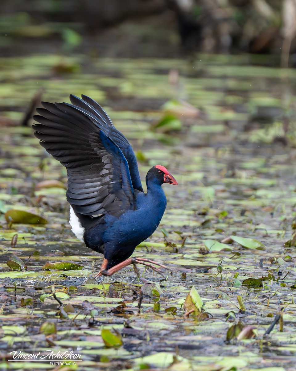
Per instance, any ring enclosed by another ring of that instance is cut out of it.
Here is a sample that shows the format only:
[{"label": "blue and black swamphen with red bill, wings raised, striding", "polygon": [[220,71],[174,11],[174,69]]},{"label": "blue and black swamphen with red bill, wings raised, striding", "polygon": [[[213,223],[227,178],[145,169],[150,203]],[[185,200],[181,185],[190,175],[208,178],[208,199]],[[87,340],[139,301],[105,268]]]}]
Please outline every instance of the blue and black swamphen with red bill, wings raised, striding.
[{"label": "blue and black swamphen with red bill, wings raised, striding", "polygon": [[162,184],[177,181],[155,165],[146,175],[144,193],[132,146],[104,109],[86,95],[71,94],[70,101],[41,102],[32,128],[41,146],[67,169],[72,232],[104,255],[96,276],[111,276],[136,263],[161,273],[158,267],[166,266],[130,256],[161,221],[166,208]]}]

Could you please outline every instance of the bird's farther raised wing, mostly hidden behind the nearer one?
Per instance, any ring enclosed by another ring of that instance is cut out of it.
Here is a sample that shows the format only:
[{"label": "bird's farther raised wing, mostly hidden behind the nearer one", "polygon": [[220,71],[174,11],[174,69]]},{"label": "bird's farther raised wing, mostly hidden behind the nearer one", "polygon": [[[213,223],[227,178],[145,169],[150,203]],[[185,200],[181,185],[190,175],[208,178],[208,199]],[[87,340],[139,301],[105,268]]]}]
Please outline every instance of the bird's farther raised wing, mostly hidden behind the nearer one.
[{"label": "bird's farther raised wing, mostly hidden behind the nearer one", "polygon": [[[137,159],[129,141],[114,127],[107,113],[97,102],[86,95],[82,95],[81,97],[82,99],[71,94],[70,101],[76,109],[87,115],[104,132],[104,134],[107,135],[107,137],[111,138],[118,145],[124,154],[124,157],[127,159],[134,189],[143,192]],[[72,106],[70,104],[68,105]]]}]

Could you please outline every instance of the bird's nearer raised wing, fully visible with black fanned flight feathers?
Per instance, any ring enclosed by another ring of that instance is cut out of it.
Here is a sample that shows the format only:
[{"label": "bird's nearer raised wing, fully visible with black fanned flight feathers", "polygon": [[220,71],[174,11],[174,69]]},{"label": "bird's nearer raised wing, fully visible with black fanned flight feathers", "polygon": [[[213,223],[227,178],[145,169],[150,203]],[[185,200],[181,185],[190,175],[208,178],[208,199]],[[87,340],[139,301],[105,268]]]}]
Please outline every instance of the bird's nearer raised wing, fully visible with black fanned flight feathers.
[{"label": "bird's nearer raised wing, fully visible with black fanned flight feathers", "polygon": [[[67,200],[74,211],[120,216],[132,207],[134,188],[121,149],[90,116],[65,103],[43,102],[33,125],[40,144],[67,168]],[[110,121],[111,122],[111,121]],[[112,123],[111,123],[112,124]]]}]

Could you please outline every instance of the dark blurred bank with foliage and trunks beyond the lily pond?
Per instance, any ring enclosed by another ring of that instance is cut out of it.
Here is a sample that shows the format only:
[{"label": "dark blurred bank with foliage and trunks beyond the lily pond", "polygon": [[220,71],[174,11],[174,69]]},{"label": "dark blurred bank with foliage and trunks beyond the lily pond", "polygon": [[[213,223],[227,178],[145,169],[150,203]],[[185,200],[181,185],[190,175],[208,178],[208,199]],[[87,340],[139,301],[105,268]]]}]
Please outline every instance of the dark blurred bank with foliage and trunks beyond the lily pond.
[{"label": "dark blurred bank with foliage and trunks beyond the lily pond", "polygon": [[1,0],[0,47],[3,55],[264,53],[270,65],[295,66],[295,19],[296,0]]}]

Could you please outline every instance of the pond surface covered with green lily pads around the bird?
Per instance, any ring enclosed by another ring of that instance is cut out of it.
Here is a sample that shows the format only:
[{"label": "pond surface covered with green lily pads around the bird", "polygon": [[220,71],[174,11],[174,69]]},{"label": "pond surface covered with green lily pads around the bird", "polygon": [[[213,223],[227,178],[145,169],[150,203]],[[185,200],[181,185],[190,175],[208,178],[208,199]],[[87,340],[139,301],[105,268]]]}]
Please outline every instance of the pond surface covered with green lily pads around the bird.
[{"label": "pond surface covered with green lily pads around the bird", "polygon": [[[9,353],[48,349],[81,354],[68,370],[295,369],[296,71],[260,58],[0,59],[1,369],[32,369]],[[100,102],[143,183],[159,162],[176,175],[134,253],[163,275],[94,280],[102,256],[70,231],[65,168],[19,125],[40,88]]]}]

